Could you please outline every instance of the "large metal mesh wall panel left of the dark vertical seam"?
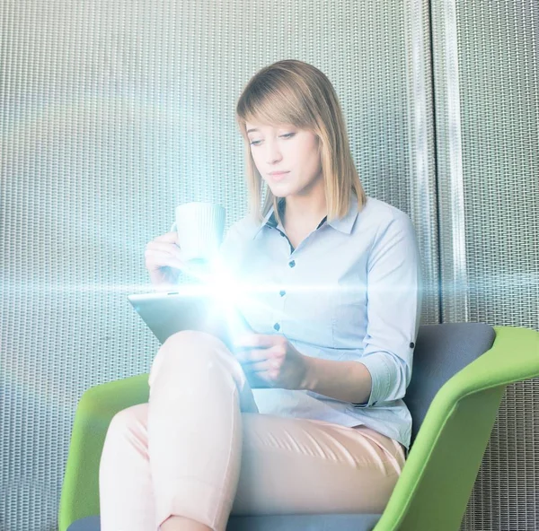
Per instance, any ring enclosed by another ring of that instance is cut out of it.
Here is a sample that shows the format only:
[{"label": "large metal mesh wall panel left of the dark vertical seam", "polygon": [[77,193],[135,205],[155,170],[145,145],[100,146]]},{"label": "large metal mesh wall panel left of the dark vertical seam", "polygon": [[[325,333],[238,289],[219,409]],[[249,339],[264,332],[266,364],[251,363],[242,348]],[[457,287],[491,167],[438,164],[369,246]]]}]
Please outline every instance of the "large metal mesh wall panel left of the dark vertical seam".
[{"label": "large metal mesh wall panel left of the dark vertical seam", "polygon": [[[299,58],[340,94],[367,193],[412,214],[437,283],[425,2],[0,4],[0,527],[54,529],[84,390],[158,344],[126,295],[184,201],[245,213],[234,104]],[[427,76],[422,78],[422,76]],[[437,322],[434,292],[424,322]]]}]

